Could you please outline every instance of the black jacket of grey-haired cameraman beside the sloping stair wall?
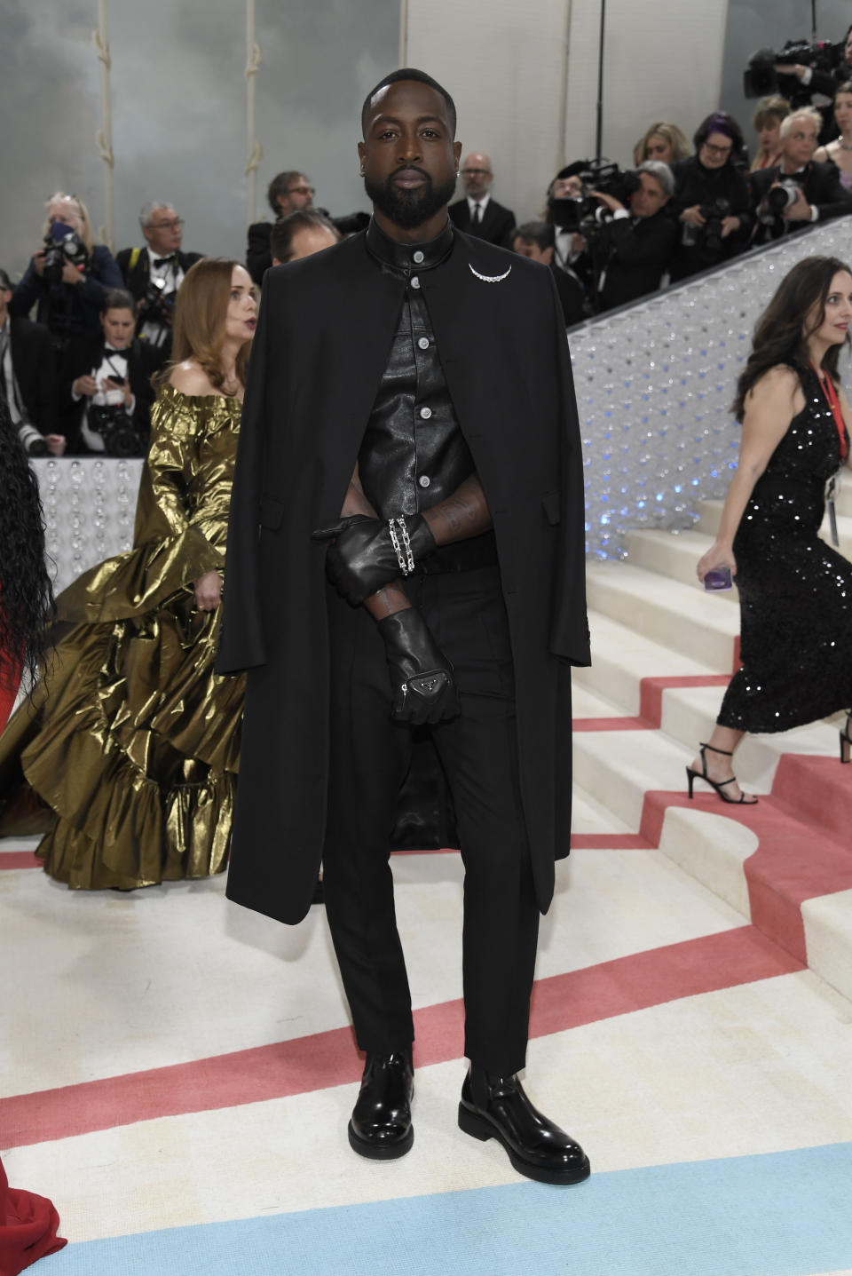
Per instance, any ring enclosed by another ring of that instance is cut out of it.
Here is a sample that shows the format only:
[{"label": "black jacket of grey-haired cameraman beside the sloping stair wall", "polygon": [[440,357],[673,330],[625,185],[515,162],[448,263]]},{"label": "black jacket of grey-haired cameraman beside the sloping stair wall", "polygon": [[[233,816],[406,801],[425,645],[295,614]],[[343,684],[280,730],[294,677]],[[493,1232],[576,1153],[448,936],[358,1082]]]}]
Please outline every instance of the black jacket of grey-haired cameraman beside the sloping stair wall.
[{"label": "black jacket of grey-haired cameraman beside the sloping stair wall", "polygon": [[676,242],[677,223],[665,209],[653,217],[616,217],[607,222],[601,254],[606,279],[599,309],[612,310],[656,292]]}]

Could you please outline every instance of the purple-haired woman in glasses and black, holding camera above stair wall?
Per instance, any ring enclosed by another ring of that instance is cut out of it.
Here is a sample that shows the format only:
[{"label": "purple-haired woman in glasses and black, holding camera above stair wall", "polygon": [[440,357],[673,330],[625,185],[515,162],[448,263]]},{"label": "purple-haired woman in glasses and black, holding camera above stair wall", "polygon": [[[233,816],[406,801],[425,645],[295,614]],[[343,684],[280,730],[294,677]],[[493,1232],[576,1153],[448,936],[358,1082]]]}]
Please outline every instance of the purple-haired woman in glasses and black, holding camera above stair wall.
[{"label": "purple-haired woman in glasses and black, holding camera above stair wall", "polygon": [[681,227],[672,283],[741,253],[751,228],[740,125],[727,111],[716,111],[699,124],[693,140],[695,154],[672,165],[672,212]]}]

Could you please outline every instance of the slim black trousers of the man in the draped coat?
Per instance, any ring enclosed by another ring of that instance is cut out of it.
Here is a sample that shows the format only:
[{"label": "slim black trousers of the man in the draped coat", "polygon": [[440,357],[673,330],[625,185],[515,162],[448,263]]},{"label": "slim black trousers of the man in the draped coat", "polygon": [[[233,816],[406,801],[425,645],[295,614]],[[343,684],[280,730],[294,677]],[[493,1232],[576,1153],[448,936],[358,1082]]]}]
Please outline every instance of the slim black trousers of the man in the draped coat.
[{"label": "slim black trousers of the man in the draped coat", "polygon": [[[524,1067],[538,939],[518,777],[511,651],[497,568],[416,577],[407,593],[455,667],[462,713],[430,729],[455,805],[464,864],[464,1053]],[[362,1050],[413,1040],[389,840],[412,731],[389,716],[384,643],[364,607],[329,591],[332,755],[325,911]]]}]

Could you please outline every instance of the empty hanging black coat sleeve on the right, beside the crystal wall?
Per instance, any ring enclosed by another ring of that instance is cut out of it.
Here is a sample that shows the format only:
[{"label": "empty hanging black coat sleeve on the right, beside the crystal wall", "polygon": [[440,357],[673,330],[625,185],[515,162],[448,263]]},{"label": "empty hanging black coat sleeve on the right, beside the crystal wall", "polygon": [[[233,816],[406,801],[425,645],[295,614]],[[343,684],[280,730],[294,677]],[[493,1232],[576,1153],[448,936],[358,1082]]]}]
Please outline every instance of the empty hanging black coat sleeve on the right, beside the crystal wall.
[{"label": "empty hanging black coat sleeve on the right, beside the crystal wall", "polygon": [[556,573],[548,648],[571,665],[591,665],[589,625],[585,615],[585,496],[583,447],[577,419],[574,376],[556,285],[547,272],[557,382],[556,411],[560,429],[560,509]]}]

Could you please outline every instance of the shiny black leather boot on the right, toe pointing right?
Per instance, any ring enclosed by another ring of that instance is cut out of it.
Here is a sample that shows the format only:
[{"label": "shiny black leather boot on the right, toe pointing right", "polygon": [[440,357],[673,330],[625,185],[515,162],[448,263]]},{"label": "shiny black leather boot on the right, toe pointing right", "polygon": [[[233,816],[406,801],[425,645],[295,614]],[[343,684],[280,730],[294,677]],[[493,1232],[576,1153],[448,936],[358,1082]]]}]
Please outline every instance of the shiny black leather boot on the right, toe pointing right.
[{"label": "shiny black leather boot on the right, toe pointing right", "polygon": [[473,1138],[500,1139],[518,1173],[538,1183],[580,1183],[592,1173],[580,1145],[533,1108],[517,1077],[471,1064],[459,1127]]}]

